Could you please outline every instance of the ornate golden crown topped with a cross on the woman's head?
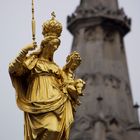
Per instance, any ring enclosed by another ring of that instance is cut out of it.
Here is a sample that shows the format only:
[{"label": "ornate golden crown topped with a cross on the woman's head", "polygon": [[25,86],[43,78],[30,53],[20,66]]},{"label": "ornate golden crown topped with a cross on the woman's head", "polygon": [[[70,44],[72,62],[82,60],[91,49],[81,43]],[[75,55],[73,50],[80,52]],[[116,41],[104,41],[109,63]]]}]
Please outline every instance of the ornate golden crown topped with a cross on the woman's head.
[{"label": "ornate golden crown topped with a cross on the woman's head", "polygon": [[48,21],[46,21],[42,27],[43,27],[43,31],[42,34],[44,35],[44,37],[46,36],[56,36],[59,37],[61,35],[62,32],[62,25],[60,22],[58,22],[55,17],[55,13],[52,12],[51,13],[52,18]]}]

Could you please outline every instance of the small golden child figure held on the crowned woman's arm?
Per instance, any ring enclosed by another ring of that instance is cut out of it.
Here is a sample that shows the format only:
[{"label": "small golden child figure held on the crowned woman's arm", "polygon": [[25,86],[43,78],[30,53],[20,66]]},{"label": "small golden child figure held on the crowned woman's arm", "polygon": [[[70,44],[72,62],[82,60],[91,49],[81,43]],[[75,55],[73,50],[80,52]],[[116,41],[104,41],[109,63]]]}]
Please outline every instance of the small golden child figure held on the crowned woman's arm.
[{"label": "small golden child figure held on the crowned woman's arm", "polygon": [[75,79],[74,76],[74,71],[81,63],[81,57],[74,51],[67,57],[66,62],[62,73],[62,91],[70,98],[75,110],[75,106],[80,105],[78,97],[83,96],[82,90],[85,88],[85,82],[82,79]]}]

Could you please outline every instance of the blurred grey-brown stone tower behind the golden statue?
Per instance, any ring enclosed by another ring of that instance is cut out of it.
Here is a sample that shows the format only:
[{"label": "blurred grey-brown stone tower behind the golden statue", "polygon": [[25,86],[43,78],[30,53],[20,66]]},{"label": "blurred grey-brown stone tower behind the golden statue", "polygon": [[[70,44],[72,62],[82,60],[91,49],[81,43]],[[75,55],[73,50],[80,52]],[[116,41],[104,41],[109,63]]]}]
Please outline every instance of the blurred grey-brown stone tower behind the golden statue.
[{"label": "blurred grey-brown stone tower behind the golden statue", "polygon": [[131,19],[117,0],[81,0],[67,22],[82,57],[76,75],[86,81],[70,139],[139,140],[123,41]]}]

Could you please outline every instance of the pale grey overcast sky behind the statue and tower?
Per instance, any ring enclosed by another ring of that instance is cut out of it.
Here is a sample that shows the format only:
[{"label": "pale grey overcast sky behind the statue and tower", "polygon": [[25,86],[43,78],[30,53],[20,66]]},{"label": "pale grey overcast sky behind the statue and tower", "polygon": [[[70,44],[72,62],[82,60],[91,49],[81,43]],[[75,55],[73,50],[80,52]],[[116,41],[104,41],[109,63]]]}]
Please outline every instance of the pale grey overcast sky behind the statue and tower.
[{"label": "pale grey overcast sky behind the statue and tower", "polygon": [[[36,38],[43,38],[41,26],[52,11],[63,25],[61,46],[55,54],[58,65],[65,64],[72,44],[72,35],[66,30],[66,17],[74,12],[80,0],[35,0]],[[134,103],[140,104],[140,1],[119,0],[126,14],[132,18],[132,30],[125,37],[125,49]],[[16,106],[15,92],[8,64],[21,48],[32,42],[31,0],[0,0],[0,140],[23,140],[23,113]]]}]

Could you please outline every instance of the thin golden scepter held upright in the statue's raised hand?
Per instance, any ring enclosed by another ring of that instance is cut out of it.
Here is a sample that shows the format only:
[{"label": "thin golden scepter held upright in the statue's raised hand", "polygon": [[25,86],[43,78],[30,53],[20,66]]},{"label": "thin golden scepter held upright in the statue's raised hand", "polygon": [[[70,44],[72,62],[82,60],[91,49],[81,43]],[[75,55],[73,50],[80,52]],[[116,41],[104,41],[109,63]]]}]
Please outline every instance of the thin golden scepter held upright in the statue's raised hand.
[{"label": "thin golden scepter held upright in the statue's raised hand", "polygon": [[35,34],[36,33],[36,21],[35,21],[35,17],[34,17],[34,0],[32,0],[32,40],[33,40],[33,44],[34,47],[37,46],[37,43],[35,41]]}]

